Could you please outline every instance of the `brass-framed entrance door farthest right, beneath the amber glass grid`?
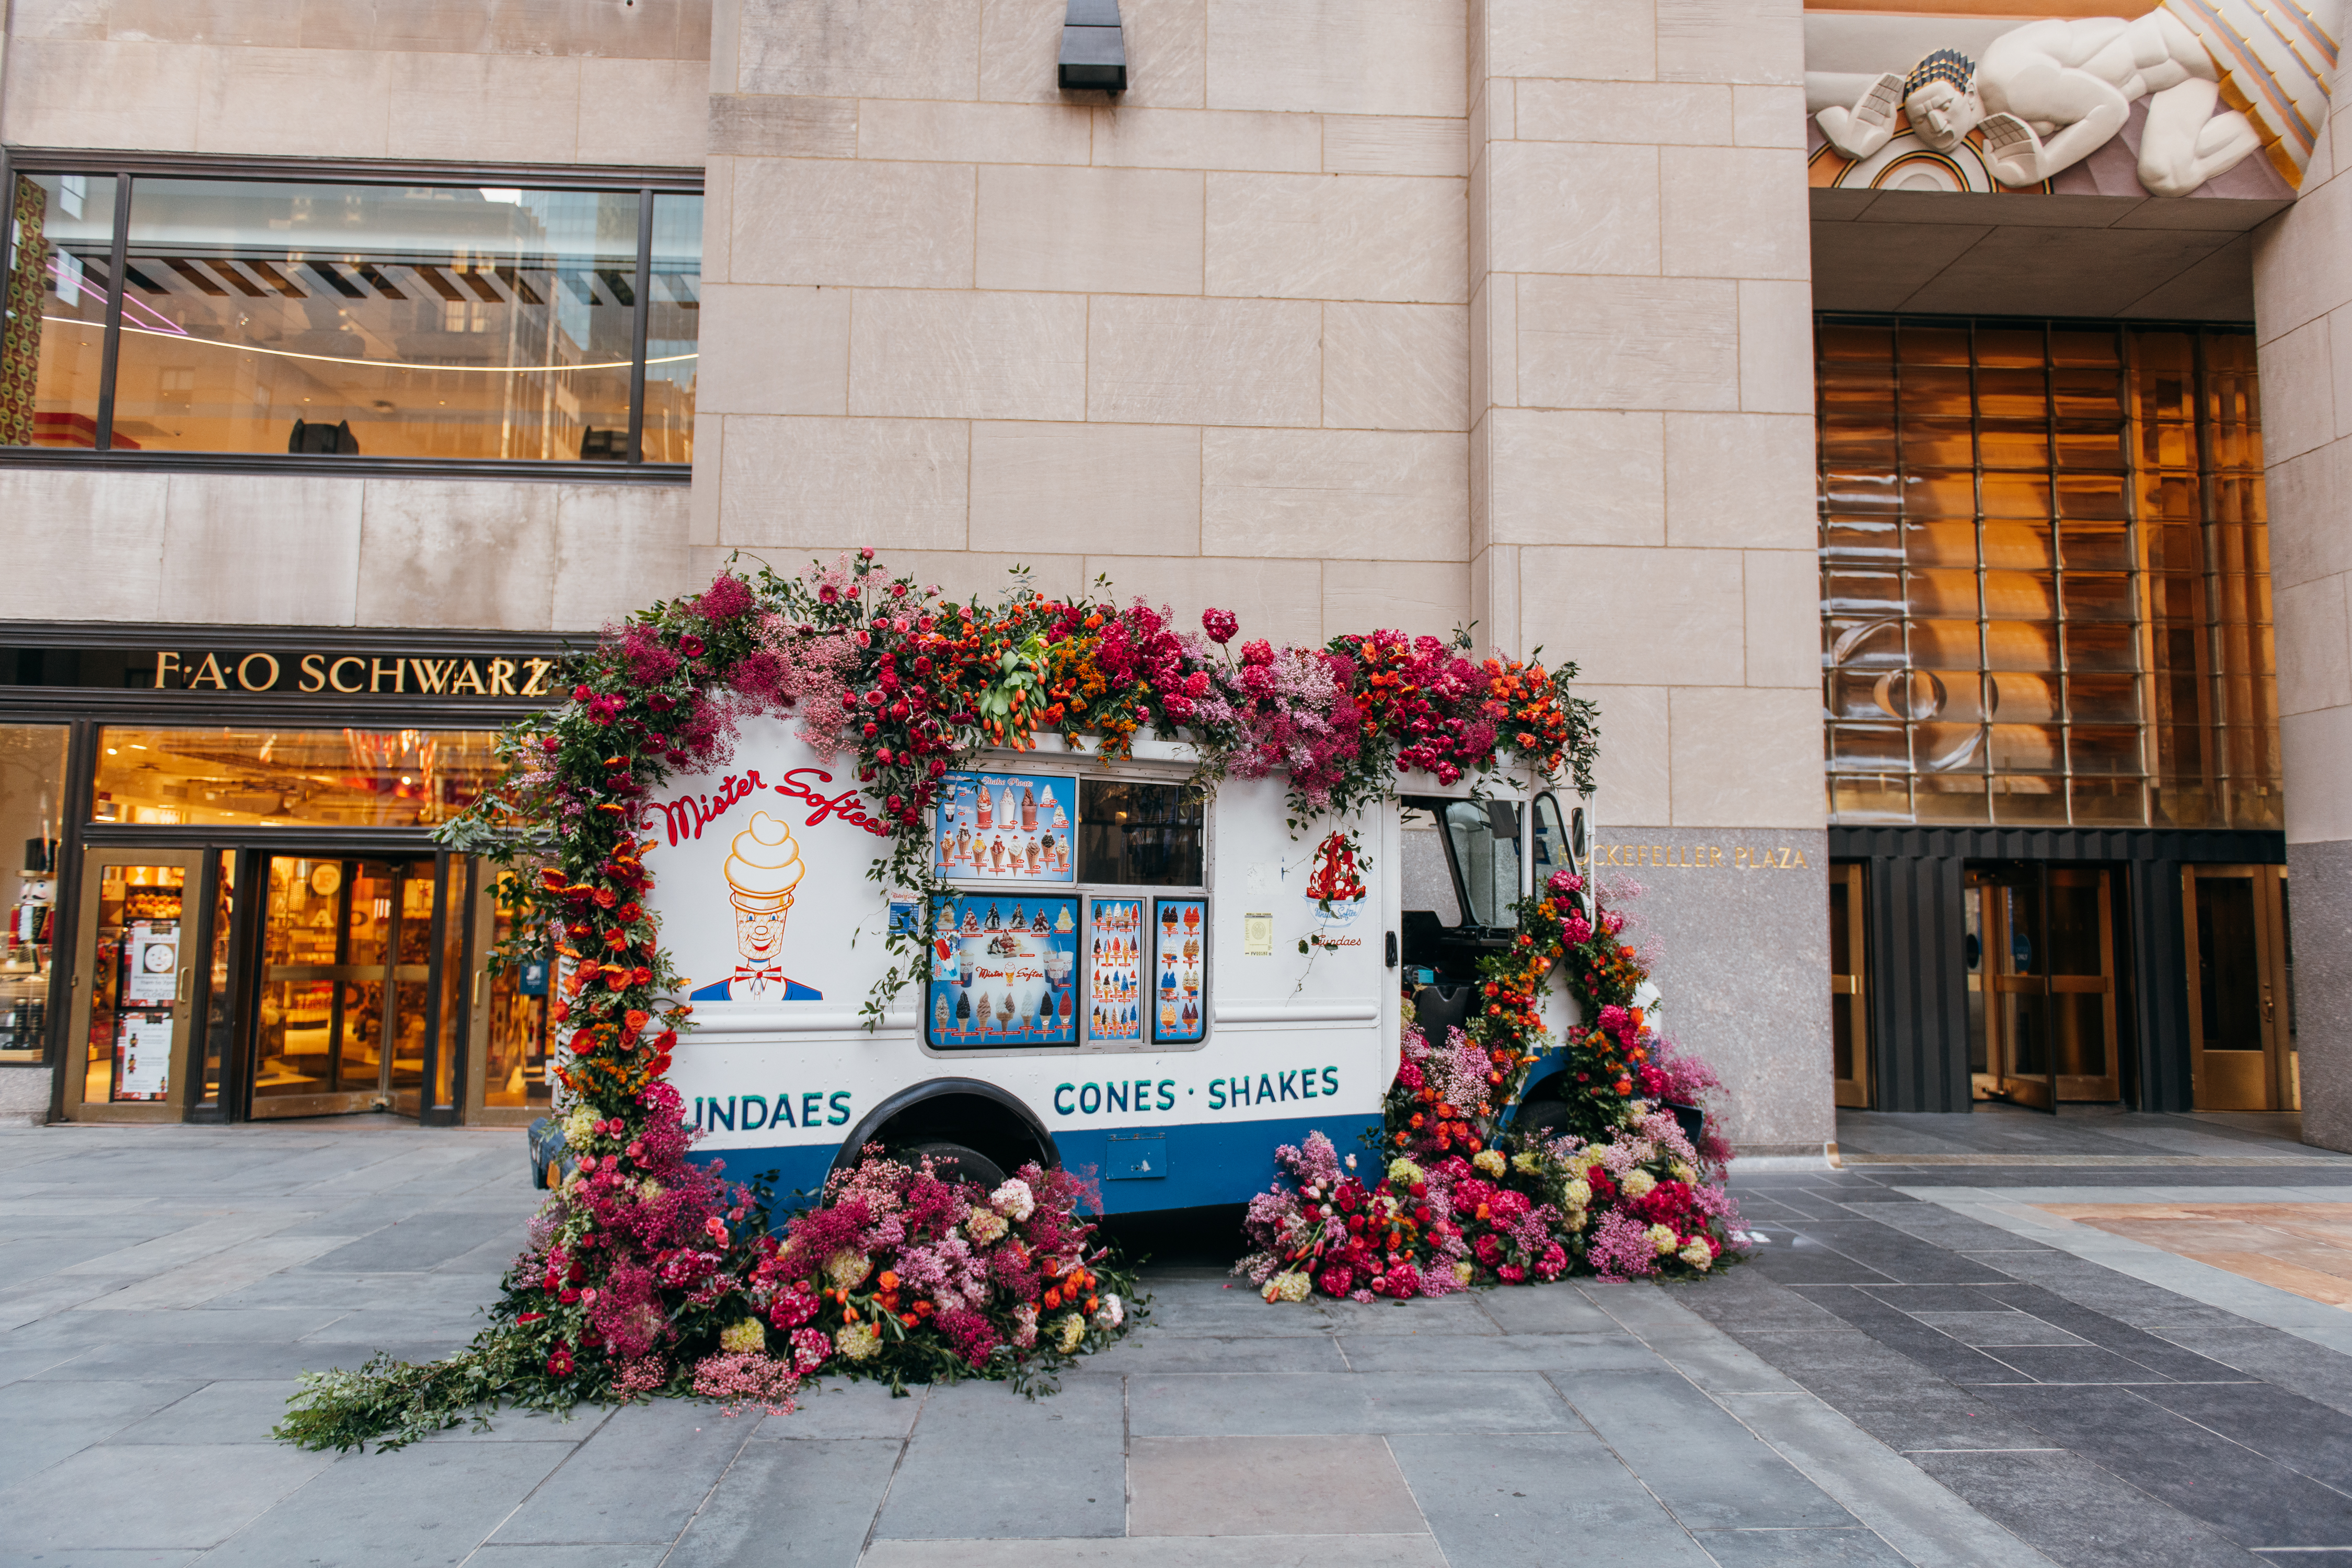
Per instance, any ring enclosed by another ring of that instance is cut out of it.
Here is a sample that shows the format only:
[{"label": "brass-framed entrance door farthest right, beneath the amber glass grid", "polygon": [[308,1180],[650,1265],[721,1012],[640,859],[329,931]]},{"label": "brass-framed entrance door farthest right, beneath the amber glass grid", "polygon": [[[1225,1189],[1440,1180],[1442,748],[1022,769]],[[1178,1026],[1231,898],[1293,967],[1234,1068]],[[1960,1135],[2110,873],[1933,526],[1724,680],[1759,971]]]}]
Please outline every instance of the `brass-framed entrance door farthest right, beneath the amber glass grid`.
[{"label": "brass-framed entrance door farthest right, beneath the amber glass grid", "polygon": [[2197,1110],[2300,1110],[2284,865],[2180,872]]}]

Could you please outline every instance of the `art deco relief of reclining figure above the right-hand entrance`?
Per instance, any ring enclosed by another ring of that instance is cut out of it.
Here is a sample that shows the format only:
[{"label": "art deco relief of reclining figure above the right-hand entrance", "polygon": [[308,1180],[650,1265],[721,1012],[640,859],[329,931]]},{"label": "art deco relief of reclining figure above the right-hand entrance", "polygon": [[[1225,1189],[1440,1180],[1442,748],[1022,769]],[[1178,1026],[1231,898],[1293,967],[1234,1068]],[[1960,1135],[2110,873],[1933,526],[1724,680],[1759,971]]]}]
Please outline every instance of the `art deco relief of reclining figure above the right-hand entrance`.
[{"label": "art deco relief of reclining figure above the right-hand entrance", "polygon": [[2138,176],[2150,193],[2187,195],[2265,146],[2293,183],[2326,122],[2333,9],[2333,0],[2164,0],[2129,21],[2030,21],[1994,38],[1980,61],[1936,49],[1910,73],[1889,71],[1816,122],[1858,162],[1896,134],[1898,108],[1938,153],[1983,129],[1985,167],[2016,188],[2096,153],[2145,99]]}]

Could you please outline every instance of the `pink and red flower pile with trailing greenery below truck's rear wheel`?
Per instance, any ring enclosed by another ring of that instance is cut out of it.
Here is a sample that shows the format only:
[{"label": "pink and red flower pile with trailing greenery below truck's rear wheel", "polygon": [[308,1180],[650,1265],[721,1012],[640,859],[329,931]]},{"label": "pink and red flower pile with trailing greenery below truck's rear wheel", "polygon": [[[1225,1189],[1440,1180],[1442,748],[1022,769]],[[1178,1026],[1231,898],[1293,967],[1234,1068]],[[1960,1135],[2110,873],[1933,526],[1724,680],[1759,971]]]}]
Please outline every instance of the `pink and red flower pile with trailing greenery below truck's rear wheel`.
[{"label": "pink and red flower pile with trailing greenery below truck's rear wheel", "polygon": [[[1084,1215],[1091,1190],[1035,1164],[988,1190],[880,1145],[767,1227],[762,1194],[687,1159],[699,1133],[652,1084],[649,1128],[572,1114],[579,1171],[532,1220],[492,1326],[428,1366],[306,1373],[278,1436],[400,1448],[499,1403],[691,1394],[790,1415],[816,1375],[1051,1387],[1136,1321],[1134,1276]],[[602,1150],[602,1152],[597,1152]]]}]

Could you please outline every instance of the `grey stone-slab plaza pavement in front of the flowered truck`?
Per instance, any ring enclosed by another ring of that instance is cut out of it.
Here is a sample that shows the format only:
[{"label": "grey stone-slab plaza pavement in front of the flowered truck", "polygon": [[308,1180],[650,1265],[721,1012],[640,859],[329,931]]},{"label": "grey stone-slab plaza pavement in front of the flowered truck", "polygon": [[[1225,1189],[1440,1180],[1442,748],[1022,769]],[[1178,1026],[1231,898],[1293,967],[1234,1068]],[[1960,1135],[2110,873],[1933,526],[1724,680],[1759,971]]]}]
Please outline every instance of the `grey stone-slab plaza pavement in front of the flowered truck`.
[{"label": "grey stone-slab plaza pavement in front of the flowered truck", "polygon": [[2037,1206],[2352,1197],[2352,1159],[1875,1121],[1842,1147],[2187,1164],[1773,1173],[1757,1262],[1672,1288],[1268,1307],[1169,1265],[1051,1399],[835,1385],[393,1455],[268,1427],[301,1368],[473,1333],[534,1206],[517,1133],[9,1128],[0,1563],[2352,1563],[2352,1319]]}]

